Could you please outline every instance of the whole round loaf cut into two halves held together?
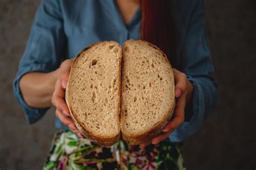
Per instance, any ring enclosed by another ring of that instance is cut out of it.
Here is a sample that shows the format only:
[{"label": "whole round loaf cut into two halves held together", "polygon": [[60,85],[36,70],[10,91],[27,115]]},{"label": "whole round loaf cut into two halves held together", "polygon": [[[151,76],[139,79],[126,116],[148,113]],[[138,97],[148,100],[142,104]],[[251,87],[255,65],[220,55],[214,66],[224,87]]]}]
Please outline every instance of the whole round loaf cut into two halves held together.
[{"label": "whole round loaf cut into two halves held together", "polygon": [[78,130],[94,143],[109,146],[121,134],[131,145],[145,143],[171,119],[172,67],[149,42],[127,40],[123,48],[114,41],[99,42],[74,60],[66,103]]}]

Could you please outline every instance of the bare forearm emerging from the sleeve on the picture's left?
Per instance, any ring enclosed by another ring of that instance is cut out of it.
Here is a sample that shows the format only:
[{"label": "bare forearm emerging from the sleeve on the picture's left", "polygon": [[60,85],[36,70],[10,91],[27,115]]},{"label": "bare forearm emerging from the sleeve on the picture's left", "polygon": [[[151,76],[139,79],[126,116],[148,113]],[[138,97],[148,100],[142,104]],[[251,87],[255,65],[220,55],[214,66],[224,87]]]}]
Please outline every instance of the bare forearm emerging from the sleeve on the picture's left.
[{"label": "bare forearm emerging from the sleeve on the picture's left", "polygon": [[34,108],[50,107],[59,69],[50,73],[28,73],[19,81],[26,104]]}]

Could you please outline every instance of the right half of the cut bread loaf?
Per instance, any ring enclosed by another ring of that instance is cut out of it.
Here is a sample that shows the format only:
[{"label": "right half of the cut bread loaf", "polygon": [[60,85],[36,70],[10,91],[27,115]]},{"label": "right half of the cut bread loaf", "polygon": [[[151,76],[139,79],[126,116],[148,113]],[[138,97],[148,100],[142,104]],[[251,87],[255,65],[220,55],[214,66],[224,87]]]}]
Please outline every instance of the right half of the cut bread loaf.
[{"label": "right half of the cut bread loaf", "polygon": [[127,40],[122,56],[122,137],[131,145],[161,133],[174,105],[174,77],[166,55],[146,41]]}]

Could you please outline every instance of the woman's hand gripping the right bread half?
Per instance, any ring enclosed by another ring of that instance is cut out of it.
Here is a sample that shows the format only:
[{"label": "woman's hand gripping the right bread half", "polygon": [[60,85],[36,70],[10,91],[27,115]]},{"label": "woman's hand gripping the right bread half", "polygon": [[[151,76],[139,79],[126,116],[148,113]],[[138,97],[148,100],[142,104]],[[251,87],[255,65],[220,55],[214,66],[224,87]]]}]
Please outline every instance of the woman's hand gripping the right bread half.
[{"label": "woman's hand gripping the right bread half", "polygon": [[186,102],[191,101],[193,94],[193,84],[187,80],[187,76],[184,73],[179,72],[177,69],[173,69],[174,80],[175,80],[175,97],[176,106],[173,112],[172,119],[167,123],[157,137],[153,138],[148,143],[140,144],[139,147],[143,148],[151,143],[156,145],[160,141],[169,137],[169,135],[181,124],[185,119],[185,106]]}]

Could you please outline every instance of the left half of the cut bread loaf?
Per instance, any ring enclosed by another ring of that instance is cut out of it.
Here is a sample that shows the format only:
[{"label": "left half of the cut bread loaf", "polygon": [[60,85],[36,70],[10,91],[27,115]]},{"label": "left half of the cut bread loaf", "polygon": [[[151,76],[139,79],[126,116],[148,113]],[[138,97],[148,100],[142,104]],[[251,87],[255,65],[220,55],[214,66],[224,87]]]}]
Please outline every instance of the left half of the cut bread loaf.
[{"label": "left half of the cut bread loaf", "polygon": [[120,138],[122,49],[115,41],[85,48],[73,61],[66,103],[78,130],[96,144]]}]

